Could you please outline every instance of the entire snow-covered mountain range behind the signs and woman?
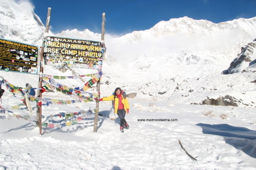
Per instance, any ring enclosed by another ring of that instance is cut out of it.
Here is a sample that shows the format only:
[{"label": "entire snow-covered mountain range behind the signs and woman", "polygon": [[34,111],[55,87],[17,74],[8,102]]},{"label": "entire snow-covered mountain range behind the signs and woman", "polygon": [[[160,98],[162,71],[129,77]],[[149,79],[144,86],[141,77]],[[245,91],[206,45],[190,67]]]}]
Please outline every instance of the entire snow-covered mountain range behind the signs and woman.
[{"label": "entire snow-covered mountain range behind the signs and woman", "polygon": [[[26,5],[26,12],[20,10]],[[1,37],[41,45],[44,26],[34,14],[31,4],[18,5],[5,0],[0,7]],[[6,22],[7,19],[10,22]],[[256,18],[215,24],[185,16],[161,21],[153,28],[134,31],[122,37],[106,35],[107,53],[101,80],[108,84],[108,88],[102,89],[102,95],[107,96],[116,87],[122,87],[124,90],[137,92],[137,99],[142,100],[203,104],[205,100],[233,96],[237,99],[234,102],[239,105],[254,106],[256,99],[251,91],[255,90],[253,81],[256,78],[253,71],[234,75],[221,73],[228,68],[244,45],[254,44],[250,42],[256,37],[255,26]],[[51,32],[49,34],[52,35]],[[52,36],[100,41],[99,34],[87,29],[66,30]],[[250,52],[253,62],[254,52],[249,47],[246,49],[246,54]],[[248,69],[253,70],[254,64],[249,65]],[[240,65],[234,68],[243,70]],[[51,66],[48,69],[45,67],[46,74],[53,73],[53,70]],[[74,69],[66,73],[57,72],[65,75],[89,71]],[[17,86],[22,86],[27,81],[32,81],[31,84],[37,86],[36,75],[26,75],[25,79],[19,73],[1,72],[1,75],[5,78],[15,75]],[[67,83],[71,87],[81,86],[81,81]]]}]

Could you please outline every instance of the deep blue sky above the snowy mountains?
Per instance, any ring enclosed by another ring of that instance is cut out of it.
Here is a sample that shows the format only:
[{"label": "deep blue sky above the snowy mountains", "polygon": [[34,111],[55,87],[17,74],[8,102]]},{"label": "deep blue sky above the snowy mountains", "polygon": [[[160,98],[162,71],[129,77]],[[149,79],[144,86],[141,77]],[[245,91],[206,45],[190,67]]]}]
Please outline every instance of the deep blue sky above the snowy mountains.
[{"label": "deep blue sky above the snowy mountains", "polygon": [[124,35],[147,30],[160,21],[188,16],[213,23],[256,16],[256,0],[30,0],[46,23],[51,7],[51,31],[89,29],[101,33],[106,13],[106,33]]}]

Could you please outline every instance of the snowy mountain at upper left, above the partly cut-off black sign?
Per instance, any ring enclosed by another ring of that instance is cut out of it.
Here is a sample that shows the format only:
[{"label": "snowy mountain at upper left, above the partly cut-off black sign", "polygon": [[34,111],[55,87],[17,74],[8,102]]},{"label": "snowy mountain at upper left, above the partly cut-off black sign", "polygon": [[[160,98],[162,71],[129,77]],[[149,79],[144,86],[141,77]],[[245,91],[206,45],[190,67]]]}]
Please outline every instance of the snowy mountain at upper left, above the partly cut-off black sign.
[{"label": "snowy mountain at upper left, above the partly cut-off black sign", "polygon": [[2,0],[0,7],[1,38],[36,45],[42,37],[44,25],[34,13],[33,5],[27,1],[17,4],[13,0]]}]

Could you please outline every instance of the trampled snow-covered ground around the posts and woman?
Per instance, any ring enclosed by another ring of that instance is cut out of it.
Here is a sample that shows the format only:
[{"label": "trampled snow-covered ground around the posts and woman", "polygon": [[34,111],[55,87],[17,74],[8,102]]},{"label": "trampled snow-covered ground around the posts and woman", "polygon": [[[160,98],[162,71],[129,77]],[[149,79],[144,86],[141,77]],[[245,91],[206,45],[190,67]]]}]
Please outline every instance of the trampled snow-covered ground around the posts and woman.
[{"label": "trampled snow-covered ground around the posts and woman", "polygon": [[[15,84],[15,79],[5,79]],[[25,74],[26,75],[26,74]],[[33,77],[35,75],[27,75]],[[27,80],[19,79],[23,87]],[[35,79],[36,80],[36,79]],[[73,82],[70,82],[73,83]],[[166,85],[166,84],[165,84]],[[102,97],[111,95],[115,84],[101,84]],[[0,119],[0,169],[255,169],[255,107],[175,104],[167,99],[149,99],[138,94],[129,98],[130,129],[119,131],[110,101],[100,102],[98,131],[93,132],[94,114],[60,128],[43,127],[42,135],[33,115],[5,87]],[[129,91],[129,90],[127,90]],[[130,90],[132,91],[132,90]],[[43,97],[67,99],[60,92]],[[69,122],[57,114],[88,111],[95,101],[69,105],[43,105],[44,123]],[[13,113],[11,113],[13,112]],[[30,119],[14,117],[30,116]],[[76,118],[76,117],[75,117]],[[148,120],[147,120],[148,119]],[[73,117],[74,120],[74,117]],[[165,120],[165,121],[163,121]],[[191,159],[179,144],[194,157]]]}]

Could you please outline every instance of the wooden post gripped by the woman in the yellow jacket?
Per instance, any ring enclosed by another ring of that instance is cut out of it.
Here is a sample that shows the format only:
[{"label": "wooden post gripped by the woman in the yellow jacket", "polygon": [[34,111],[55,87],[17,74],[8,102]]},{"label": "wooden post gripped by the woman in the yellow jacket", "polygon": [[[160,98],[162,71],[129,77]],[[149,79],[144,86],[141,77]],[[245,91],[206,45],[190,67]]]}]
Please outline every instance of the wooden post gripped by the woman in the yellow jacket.
[{"label": "wooden post gripped by the woman in the yellow jacket", "polygon": [[[102,13],[101,41],[105,40],[105,22],[106,22],[105,13]],[[97,81],[97,92],[100,92],[100,79]],[[99,98],[100,98],[100,93],[99,93]],[[100,107],[100,101],[96,101],[93,132],[97,132],[98,130],[99,107]]]}]

